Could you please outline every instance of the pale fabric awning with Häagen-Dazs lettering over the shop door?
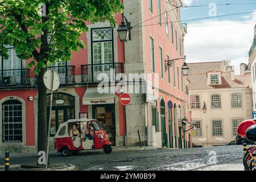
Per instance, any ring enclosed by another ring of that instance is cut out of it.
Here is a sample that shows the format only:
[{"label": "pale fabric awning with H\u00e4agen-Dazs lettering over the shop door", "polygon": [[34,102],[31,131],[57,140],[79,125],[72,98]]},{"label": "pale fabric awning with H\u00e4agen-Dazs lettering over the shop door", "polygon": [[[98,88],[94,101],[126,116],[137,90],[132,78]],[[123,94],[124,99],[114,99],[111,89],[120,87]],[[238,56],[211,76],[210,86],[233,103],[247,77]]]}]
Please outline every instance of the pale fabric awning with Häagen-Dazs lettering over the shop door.
[{"label": "pale fabric awning with H\u00e4agen-Dazs lettering over the shop door", "polygon": [[87,88],[82,97],[83,105],[114,104],[114,93],[99,93],[96,88]]}]

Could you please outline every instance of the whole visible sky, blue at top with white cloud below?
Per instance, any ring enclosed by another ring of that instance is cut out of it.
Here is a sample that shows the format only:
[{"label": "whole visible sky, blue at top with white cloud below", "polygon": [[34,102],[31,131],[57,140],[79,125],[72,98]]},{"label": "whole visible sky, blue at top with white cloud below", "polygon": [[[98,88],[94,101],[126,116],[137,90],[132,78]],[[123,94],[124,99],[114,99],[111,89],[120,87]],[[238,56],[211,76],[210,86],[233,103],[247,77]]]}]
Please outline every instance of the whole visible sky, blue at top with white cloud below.
[{"label": "whole visible sky, blue at top with white cloud below", "polygon": [[[182,0],[184,6],[225,3],[256,3],[255,0]],[[256,11],[254,5],[217,6],[217,16]],[[181,20],[209,17],[210,7],[181,8]],[[224,16],[204,20],[185,21],[185,55],[188,62],[230,60],[240,73],[240,63],[248,63],[253,43],[256,13]]]}]

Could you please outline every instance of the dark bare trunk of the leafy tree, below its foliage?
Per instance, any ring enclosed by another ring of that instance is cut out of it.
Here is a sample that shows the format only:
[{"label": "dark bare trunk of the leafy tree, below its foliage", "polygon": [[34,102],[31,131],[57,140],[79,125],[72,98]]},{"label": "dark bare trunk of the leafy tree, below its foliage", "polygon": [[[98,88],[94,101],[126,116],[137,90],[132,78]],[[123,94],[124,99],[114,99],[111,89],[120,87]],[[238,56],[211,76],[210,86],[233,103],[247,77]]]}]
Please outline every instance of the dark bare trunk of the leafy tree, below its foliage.
[{"label": "dark bare trunk of the leafy tree, below its foliage", "polygon": [[47,152],[47,88],[43,82],[46,70],[42,69],[38,76],[38,152]]}]

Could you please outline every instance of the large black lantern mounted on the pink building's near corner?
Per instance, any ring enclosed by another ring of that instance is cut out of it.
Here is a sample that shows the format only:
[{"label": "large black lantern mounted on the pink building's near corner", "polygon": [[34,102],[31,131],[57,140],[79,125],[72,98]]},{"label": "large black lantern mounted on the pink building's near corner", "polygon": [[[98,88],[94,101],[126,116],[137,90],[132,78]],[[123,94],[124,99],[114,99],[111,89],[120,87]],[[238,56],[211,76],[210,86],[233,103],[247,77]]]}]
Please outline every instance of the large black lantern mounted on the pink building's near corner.
[{"label": "large black lantern mounted on the pink building's near corner", "polygon": [[119,36],[119,39],[121,40],[121,42],[127,42],[127,40],[131,40],[131,23],[126,19],[126,17],[123,15],[122,13],[122,16],[123,16],[123,20],[125,20],[125,22],[123,21],[117,32],[118,32],[118,36]]}]

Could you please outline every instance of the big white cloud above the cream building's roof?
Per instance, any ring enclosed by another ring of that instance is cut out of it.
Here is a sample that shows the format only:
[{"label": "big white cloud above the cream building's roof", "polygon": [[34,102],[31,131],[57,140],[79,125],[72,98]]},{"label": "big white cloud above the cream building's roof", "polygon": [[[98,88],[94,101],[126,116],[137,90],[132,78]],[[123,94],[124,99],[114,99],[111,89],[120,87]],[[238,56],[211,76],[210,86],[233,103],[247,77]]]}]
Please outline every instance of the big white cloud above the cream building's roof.
[{"label": "big white cloud above the cream building's roof", "polygon": [[188,24],[185,55],[188,62],[231,60],[236,74],[248,63],[256,13],[238,20],[207,20]]}]

